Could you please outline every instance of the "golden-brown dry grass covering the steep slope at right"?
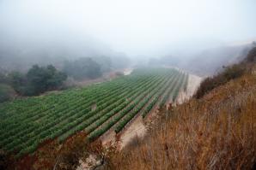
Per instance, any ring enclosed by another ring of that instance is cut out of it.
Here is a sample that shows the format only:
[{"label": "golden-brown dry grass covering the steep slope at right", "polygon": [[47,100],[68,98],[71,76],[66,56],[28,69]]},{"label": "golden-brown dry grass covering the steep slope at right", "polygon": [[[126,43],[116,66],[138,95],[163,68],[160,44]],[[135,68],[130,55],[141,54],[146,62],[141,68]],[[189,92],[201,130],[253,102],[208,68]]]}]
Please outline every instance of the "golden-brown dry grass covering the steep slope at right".
[{"label": "golden-brown dry grass covering the steep slope at right", "polygon": [[109,169],[256,168],[256,77],[245,75],[168,113]]}]

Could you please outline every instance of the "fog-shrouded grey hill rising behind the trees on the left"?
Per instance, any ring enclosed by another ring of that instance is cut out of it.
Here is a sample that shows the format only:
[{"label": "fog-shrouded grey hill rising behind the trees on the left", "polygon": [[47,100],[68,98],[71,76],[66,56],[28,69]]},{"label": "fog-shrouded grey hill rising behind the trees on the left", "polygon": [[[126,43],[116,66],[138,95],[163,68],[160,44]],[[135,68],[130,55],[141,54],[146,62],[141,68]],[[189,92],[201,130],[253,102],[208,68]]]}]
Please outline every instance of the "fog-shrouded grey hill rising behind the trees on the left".
[{"label": "fog-shrouded grey hill rising behind the trees on the left", "polygon": [[[2,33],[2,34],[1,34]],[[15,37],[0,32],[0,69],[27,72],[34,64],[62,67],[66,60],[81,57],[107,57],[112,67],[125,67],[129,59],[125,54],[113,51],[107,44],[76,33],[58,32],[54,37]],[[101,63],[100,63],[101,64]]]}]

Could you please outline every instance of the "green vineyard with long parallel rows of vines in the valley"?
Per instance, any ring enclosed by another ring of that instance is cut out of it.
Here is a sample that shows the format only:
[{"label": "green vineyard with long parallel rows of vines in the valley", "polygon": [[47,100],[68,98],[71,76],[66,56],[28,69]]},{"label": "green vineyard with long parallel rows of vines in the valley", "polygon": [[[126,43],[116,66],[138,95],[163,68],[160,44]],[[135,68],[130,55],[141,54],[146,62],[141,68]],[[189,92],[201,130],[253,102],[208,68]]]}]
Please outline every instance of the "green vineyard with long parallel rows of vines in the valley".
[{"label": "green vineyard with long parallel rows of vines in the valley", "polygon": [[64,141],[85,131],[88,140],[121,132],[137,116],[174,101],[188,75],[171,68],[141,68],[130,75],[40,97],[0,104],[0,149],[33,153],[46,139]]}]

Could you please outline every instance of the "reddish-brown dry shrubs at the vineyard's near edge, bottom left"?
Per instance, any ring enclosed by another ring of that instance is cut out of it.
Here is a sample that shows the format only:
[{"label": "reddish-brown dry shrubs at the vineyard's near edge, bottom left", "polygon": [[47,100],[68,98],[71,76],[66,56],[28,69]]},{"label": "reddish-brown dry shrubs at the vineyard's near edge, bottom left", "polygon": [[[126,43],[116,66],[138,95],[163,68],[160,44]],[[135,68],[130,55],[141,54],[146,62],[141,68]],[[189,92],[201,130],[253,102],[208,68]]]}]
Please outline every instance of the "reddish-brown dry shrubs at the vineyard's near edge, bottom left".
[{"label": "reddish-brown dry shrubs at the vineyard's near edge, bottom left", "polygon": [[48,140],[40,144],[39,149],[32,155],[25,155],[16,160],[17,170],[72,170],[79,166],[80,160],[86,159],[90,153],[101,156],[101,142],[88,143],[85,132],[78,132],[64,141]]}]

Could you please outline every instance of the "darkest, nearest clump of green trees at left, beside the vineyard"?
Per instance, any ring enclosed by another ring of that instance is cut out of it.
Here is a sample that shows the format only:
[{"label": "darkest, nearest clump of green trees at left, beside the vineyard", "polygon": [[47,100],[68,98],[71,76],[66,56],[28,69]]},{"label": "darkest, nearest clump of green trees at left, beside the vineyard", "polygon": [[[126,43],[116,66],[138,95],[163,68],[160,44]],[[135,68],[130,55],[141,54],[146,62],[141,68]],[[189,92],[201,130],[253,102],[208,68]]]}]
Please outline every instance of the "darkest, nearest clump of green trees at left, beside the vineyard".
[{"label": "darkest, nearest clump of green trees at left, beside the vineyard", "polygon": [[[56,90],[63,85],[65,79],[67,75],[59,72],[52,65],[47,67],[34,65],[27,74],[16,71],[0,73],[0,83],[11,86],[21,96],[34,96],[45,91]],[[2,88],[1,92],[1,97],[9,98],[6,88]]]}]

